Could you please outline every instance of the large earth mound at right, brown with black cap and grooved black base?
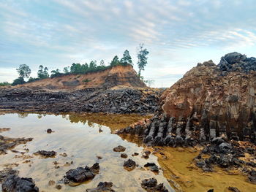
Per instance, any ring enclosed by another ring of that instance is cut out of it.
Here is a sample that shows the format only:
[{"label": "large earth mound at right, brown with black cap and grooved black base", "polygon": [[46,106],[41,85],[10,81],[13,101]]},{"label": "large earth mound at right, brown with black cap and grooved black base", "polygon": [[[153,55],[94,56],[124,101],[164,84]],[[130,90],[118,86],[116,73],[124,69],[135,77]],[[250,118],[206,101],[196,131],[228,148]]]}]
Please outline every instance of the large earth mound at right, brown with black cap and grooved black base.
[{"label": "large earth mound at right, brown with black cap and grooved black base", "polygon": [[255,98],[255,58],[229,53],[218,65],[197,64],[162,93],[161,109],[146,123],[144,142],[195,145],[219,136],[255,142]]}]

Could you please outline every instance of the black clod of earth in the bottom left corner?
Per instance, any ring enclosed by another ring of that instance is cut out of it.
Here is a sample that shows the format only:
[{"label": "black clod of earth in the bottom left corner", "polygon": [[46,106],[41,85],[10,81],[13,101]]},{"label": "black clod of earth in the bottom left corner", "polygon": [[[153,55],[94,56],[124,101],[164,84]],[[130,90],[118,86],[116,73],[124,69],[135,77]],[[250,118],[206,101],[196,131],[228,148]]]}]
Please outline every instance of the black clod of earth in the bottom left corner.
[{"label": "black clod of earth in the bottom left corner", "polygon": [[32,178],[24,178],[18,177],[18,175],[12,174],[4,180],[4,183],[1,185],[3,192],[11,192],[11,191],[30,191],[30,192],[38,192],[39,189],[34,184],[34,180]]}]

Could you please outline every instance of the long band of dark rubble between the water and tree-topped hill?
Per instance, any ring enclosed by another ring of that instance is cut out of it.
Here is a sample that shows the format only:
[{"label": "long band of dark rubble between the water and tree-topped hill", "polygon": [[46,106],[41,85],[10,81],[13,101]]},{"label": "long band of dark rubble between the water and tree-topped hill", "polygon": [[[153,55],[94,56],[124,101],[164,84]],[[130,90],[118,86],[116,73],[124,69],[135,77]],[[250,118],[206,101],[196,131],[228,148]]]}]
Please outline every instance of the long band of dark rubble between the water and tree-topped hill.
[{"label": "long band of dark rubble between the water and tree-topped hill", "polygon": [[146,115],[157,110],[161,93],[150,88],[86,88],[72,92],[25,87],[0,88],[0,109]]}]

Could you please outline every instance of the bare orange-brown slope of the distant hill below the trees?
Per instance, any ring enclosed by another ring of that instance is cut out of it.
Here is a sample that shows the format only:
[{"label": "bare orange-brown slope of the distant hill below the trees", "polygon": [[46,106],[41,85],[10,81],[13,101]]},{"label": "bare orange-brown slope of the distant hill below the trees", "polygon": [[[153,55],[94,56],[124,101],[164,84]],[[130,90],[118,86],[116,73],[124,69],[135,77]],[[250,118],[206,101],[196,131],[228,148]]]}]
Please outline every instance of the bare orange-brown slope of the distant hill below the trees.
[{"label": "bare orange-brown slope of the distant hill below the trees", "polygon": [[113,66],[101,72],[88,74],[68,74],[61,77],[47,78],[29,82],[16,87],[48,88],[48,89],[84,89],[84,88],[113,88],[115,86],[145,88],[132,66]]}]

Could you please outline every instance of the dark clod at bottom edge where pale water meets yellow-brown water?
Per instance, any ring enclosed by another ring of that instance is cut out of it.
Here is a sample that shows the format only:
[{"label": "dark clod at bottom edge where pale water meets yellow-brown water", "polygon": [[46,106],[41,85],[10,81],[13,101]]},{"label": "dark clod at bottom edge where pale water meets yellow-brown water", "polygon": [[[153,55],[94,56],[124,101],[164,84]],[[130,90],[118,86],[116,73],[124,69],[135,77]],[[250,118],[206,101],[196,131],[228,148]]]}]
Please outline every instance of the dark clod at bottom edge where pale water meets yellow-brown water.
[{"label": "dark clod at bottom edge where pale water meets yellow-brown water", "polygon": [[150,191],[150,192],[167,192],[168,191],[162,183],[157,185],[157,180],[155,178],[143,180],[141,183],[141,187],[144,188],[146,191]]}]

